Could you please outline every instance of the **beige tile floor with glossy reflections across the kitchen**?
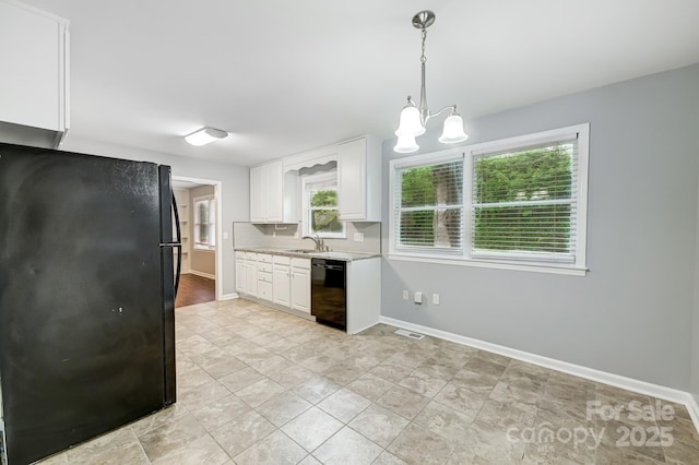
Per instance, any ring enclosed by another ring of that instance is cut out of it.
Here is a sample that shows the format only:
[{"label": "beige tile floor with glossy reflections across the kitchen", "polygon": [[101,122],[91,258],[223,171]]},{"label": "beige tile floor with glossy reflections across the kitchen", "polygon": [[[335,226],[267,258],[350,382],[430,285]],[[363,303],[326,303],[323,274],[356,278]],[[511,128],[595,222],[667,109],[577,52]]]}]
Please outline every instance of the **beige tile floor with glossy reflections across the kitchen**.
[{"label": "beige tile floor with glossy reflections across the kitchen", "polygon": [[699,463],[680,405],[394,331],[178,309],[177,404],[43,464]]}]

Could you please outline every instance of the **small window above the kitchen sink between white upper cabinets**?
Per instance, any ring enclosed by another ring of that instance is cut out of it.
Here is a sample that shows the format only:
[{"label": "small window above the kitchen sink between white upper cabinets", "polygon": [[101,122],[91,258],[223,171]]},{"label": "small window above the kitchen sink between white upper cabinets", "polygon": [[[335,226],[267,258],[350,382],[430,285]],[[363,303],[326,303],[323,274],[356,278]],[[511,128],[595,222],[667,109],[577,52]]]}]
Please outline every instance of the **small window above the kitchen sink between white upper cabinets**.
[{"label": "small window above the kitchen sink between white upper cabinets", "polygon": [[325,238],[344,238],[345,224],[337,218],[335,171],[304,178],[304,231]]}]

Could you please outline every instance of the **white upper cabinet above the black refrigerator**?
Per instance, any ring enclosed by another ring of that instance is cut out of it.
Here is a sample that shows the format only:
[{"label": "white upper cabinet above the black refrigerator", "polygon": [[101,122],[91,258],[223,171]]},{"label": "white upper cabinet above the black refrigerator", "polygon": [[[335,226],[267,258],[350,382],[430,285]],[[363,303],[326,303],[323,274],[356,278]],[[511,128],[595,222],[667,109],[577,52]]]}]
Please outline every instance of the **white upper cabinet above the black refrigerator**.
[{"label": "white upper cabinet above the black refrigerator", "polygon": [[68,24],[24,3],[0,0],[1,140],[57,146],[68,130]]}]

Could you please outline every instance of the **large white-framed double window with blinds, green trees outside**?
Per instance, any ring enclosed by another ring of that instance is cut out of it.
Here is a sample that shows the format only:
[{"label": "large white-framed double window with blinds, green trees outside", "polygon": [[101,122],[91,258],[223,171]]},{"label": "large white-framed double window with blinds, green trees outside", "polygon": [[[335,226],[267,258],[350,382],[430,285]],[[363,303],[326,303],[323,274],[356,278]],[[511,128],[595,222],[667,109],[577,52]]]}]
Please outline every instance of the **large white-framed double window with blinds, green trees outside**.
[{"label": "large white-framed double window with blinds, green trees outside", "polygon": [[390,255],[584,274],[589,124],[391,162]]}]

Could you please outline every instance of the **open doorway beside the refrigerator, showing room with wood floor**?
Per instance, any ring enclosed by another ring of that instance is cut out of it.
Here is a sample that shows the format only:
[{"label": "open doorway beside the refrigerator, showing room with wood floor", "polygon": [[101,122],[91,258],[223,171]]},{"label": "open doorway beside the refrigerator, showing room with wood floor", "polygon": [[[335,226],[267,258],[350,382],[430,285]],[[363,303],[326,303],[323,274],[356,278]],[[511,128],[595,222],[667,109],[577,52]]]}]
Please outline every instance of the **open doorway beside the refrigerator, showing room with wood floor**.
[{"label": "open doorway beside the refrigerator, showing room with wood floor", "polygon": [[221,181],[173,175],[182,231],[180,287],[175,307],[218,300],[221,278]]}]

